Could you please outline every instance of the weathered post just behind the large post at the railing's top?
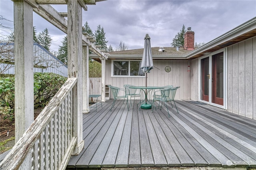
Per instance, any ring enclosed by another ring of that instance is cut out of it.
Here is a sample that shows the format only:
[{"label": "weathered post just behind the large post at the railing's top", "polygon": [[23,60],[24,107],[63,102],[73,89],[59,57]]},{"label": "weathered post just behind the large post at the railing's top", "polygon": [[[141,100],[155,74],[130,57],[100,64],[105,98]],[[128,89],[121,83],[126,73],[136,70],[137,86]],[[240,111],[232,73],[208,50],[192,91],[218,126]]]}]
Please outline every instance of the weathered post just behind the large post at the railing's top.
[{"label": "weathered post just behind the large post at the railing's top", "polygon": [[83,44],[83,113],[89,113],[89,46]]}]

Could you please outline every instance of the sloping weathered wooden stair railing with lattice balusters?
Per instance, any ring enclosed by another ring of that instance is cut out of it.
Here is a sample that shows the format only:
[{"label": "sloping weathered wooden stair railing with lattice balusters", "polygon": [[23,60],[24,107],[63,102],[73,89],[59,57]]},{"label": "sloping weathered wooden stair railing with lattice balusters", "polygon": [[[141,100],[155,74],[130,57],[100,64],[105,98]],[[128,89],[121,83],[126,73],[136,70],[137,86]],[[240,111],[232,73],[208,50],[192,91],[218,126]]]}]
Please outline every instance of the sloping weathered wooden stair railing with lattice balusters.
[{"label": "sloping weathered wooden stair railing with lattice balusters", "polygon": [[[68,78],[0,164],[0,170],[62,170],[76,144],[76,78]],[[74,121],[75,122],[75,121]]]}]

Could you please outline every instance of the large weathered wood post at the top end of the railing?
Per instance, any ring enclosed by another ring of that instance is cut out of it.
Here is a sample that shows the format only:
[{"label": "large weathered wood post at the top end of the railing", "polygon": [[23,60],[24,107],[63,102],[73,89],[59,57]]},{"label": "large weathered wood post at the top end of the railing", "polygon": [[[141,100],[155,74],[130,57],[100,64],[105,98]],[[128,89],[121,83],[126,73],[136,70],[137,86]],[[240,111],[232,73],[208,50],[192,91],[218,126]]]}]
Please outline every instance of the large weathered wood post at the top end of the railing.
[{"label": "large weathered wood post at the top end of the railing", "polygon": [[68,0],[68,77],[77,78],[73,106],[73,136],[77,137],[73,154],[84,148],[82,134],[82,7],[77,0]]}]

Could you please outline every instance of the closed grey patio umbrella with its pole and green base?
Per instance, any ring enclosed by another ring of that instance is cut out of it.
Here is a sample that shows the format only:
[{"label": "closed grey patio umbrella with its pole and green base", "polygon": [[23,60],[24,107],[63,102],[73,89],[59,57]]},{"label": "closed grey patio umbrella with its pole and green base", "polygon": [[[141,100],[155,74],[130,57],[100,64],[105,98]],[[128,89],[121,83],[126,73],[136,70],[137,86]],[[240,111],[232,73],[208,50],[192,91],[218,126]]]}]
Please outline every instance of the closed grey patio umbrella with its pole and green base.
[{"label": "closed grey patio umbrella with its pole and green base", "polygon": [[[153,65],[153,59],[152,59],[152,51],[151,51],[151,44],[150,44],[150,37],[148,34],[145,36],[145,43],[144,43],[144,51],[143,51],[143,56],[142,56],[142,61],[140,68],[144,73],[146,73],[146,87],[147,87],[147,73],[150,73],[150,70],[154,68]],[[142,104],[141,108],[144,109],[150,109],[151,104],[147,104],[147,98],[146,98],[146,103]]]}]

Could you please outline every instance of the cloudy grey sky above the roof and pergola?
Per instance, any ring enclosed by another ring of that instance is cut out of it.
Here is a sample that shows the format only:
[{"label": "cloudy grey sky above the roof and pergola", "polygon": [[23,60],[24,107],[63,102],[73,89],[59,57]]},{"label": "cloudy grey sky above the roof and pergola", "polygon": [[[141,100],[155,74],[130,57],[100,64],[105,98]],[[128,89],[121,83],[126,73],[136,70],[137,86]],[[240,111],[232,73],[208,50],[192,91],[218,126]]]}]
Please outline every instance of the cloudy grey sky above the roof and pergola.
[{"label": "cloudy grey sky above the roof and pergola", "polygon": [[[67,11],[66,5],[53,7]],[[13,29],[11,0],[0,0],[0,15],[0,33],[9,35]],[[139,49],[146,33],[151,47],[170,47],[184,24],[192,27],[195,42],[207,43],[255,16],[256,0],[106,0],[88,5],[82,19],[93,32],[98,25],[104,27],[108,46],[115,48],[122,41],[129,49]],[[37,33],[48,28],[53,39],[50,49],[58,51],[65,34],[35,13],[33,20]]]}]

